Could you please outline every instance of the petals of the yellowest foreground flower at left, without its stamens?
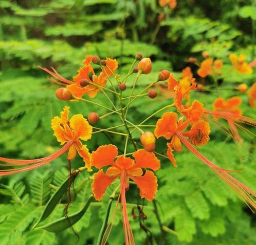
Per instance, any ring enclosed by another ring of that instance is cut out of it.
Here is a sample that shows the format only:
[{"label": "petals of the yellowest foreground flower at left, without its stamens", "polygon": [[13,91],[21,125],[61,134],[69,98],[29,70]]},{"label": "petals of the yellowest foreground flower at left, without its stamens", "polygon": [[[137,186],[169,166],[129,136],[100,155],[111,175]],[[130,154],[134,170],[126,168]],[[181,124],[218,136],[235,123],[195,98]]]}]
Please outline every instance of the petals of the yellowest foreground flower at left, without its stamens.
[{"label": "petals of the yellowest foreground flower at left, without its stamens", "polygon": [[83,118],[81,114],[77,114],[69,120],[69,107],[65,106],[61,112],[61,116],[56,116],[52,119],[51,126],[54,136],[61,145],[70,141],[72,142],[68,150],[68,160],[73,160],[78,152],[88,171],[92,171],[91,154],[87,146],[83,145],[80,141],[87,141],[92,137],[93,128],[87,119]]}]

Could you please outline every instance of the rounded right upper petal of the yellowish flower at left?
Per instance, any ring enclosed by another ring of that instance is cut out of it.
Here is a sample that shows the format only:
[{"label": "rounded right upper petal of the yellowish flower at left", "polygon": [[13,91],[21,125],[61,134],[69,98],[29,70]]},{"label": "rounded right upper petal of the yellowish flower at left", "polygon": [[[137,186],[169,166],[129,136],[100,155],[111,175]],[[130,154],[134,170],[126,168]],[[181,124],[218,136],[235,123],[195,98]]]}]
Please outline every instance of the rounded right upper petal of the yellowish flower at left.
[{"label": "rounded right upper petal of the yellowish flower at left", "polygon": [[74,115],[70,119],[70,126],[75,131],[75,139],[87,141],[92,138],[93,128],[81,114]]}]

